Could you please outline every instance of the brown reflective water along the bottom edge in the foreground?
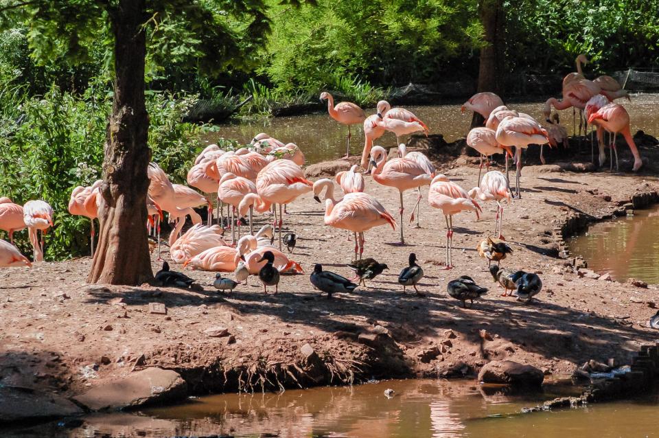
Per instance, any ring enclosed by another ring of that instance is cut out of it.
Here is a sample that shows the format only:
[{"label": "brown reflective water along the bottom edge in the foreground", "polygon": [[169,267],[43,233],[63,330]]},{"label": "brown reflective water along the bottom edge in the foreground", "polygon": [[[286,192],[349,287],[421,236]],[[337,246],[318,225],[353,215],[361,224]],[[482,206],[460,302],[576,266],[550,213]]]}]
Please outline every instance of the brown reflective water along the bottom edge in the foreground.
[{"label": "brown reflective water along the bottom edge in the foreground", "polygon": [[[388,399],[385,389],[395,395]],[[391,380],[283,394],[212,395],[142,413],[84,417],[3,437],[658,437],[656,400],[600,404],[522,414],[575,389],[554,384],[544,393],[511,395],[474,382]]]}]

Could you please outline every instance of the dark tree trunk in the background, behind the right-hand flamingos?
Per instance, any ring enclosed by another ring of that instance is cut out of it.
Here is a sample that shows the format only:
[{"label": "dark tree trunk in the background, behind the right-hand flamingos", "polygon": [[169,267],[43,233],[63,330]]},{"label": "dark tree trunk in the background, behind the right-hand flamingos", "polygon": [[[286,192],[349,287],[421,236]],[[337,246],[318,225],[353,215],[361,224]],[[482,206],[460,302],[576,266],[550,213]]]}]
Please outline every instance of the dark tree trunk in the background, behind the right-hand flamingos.
[{"label": "dark tree trunk in the background, behind the right-hand flamingos", "polygon": [[[478,93],[492,91],[502,96],[503,93],[503,67],[505,54],[503,51],[505,32],[505,11],[503,0],[481,0],[478,5],[478,14],[485,30],[485,47],[481,49],[480,64],[478,65]],[[483,117],[474,113],[472,128],[483,126]]]}]

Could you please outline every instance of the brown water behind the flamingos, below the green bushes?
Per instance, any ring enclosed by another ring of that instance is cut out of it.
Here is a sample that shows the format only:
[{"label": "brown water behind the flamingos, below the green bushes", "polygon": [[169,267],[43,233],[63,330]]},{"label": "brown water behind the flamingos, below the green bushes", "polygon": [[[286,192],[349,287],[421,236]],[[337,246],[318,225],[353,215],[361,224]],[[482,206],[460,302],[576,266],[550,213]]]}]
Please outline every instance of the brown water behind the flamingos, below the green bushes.
[{"label": "brown water behind the flamingos, below the green bushes", "polygon": [[[620,100],[625,105],[632,119],[632,133],[642,129],[648,134],[659,136],[658,94],[632,95],[632,102]],[[522,111],[542,121],[542,102],[523,102],[509,104],[509,108]],[[460,105],[406,106],[423,120],[431,134],[442,134],[446,141],[455,141],[465,137],[472,120],[471,113],[461,114]],[[367,108],[367,114],[375,113],[375,109]],[[561,123],[572,133],[572,110],[560,112]],[[219,132],[207,135],[205,139],[214,142],[218,137],[237,139],[248,143],[259,132],[288,143],[296,143],[304,152],[308,163],[318,163],[342,157],[345,154],[347,128],[325,113],[302,115],[294,117],[275,117],[273,119],[244,122],[241,124],[220,125]],[[395,146],[395,136],[387,132],[376,144]],[[403,141],[403,139],[402,139]],[[364,132],[361,126],[353,126],[350,142],[352,154],[360,154],[364,147]]]}]

